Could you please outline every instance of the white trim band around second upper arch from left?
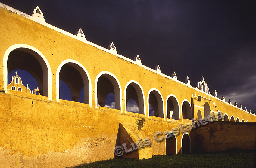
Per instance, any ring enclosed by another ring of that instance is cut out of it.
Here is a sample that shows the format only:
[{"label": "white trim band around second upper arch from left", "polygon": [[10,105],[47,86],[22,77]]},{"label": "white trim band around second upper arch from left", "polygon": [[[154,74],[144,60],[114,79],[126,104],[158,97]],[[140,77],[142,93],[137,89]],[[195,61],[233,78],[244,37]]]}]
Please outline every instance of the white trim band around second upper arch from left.
[{"label": "white trim band around second upper arch from left", "polygon": [[59,64],[59,66],[57,68],[57,71],[56,71],[56,101],[58,101],[58,102],[60,101],[60,85],[59,85],[60,71],[61,71],[61,68],[63,67],[63,65],[67,64],[67,63],[74,63],[74,64],[79,65],[84,70],[84,72],[86,73],[88,81],[89,81],[89,105],[90,105],[90,107],[92,107],[92,82],[91,82],[91,78],[90,78],[89,73],[86,70],[86,68],[80,62],[78,62],[76,60],[73,60],[73,59],[66,59],[66,60],[62,61],[61,64]]}]

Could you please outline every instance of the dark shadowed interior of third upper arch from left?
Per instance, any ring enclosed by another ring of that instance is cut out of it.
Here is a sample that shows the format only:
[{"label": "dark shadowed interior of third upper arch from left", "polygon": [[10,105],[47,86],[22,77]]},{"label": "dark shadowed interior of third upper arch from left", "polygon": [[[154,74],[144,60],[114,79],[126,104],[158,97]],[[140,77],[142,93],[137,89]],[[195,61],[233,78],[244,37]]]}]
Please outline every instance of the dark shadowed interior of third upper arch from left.
[{"label": "dark shadowed interior of third upper arch from left", "polygon": [[[114,86],[112,82],[105,77],[104,75],[101,75],[97,82],[97,89],[98,89],[98,104],[101,107],[104,107],[106,104],[106,98],[109,93],[113,93],[115,95]],[[115,102],[115,99],[113,100]]]}]

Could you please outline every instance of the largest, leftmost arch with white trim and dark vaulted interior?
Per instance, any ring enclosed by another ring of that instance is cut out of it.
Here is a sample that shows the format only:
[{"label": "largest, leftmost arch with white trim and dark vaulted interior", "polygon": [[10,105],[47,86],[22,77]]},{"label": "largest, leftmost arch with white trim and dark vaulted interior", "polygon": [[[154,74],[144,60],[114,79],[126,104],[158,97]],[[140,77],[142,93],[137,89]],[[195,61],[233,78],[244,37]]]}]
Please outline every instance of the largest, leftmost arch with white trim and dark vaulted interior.
[{"label": "largest, leftmost arch with white trim and dark vaulted interior", "polygon": [[5,90],[8,74],[14,69],[25,70],[36,79],[40,95],[48,96],[52,100],[52,72],[42,52],[27,44],[14,44],[5,51],[3,63]]}]

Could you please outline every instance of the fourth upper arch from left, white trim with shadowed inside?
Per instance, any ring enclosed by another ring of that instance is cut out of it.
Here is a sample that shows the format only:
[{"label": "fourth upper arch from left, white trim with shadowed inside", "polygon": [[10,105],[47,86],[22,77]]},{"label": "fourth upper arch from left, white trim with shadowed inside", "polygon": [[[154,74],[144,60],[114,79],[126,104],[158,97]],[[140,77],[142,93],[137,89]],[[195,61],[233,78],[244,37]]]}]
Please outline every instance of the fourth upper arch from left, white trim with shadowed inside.
[{"label": "fourth upper arch from left, white trim with shadowed inside", "polygon": [[[144,91],[143,91],[141,85],[135,80],[130,80],[129,82],[127,82],[126,85],[125,85],[125,88],[124,88],[125,113],[127,111],[127,102],[129,101],[129,99],[127,100],[127,87],[128,86],[132,86],[135,89],[135,91],[134,91],[133,88],[131,87],[130,89],[133,90],[133,95],[128,95],[128,96],[133,98],[133,100],[134,100],[134,98],[136,99],[134,101],[136,101],[136,103],[139,107],[139,113],[146,115],[146,110],[145,110],[146,109],[146,104],[145,104]],[[128,87],[128,90],[130,90],[130,89]]]}]

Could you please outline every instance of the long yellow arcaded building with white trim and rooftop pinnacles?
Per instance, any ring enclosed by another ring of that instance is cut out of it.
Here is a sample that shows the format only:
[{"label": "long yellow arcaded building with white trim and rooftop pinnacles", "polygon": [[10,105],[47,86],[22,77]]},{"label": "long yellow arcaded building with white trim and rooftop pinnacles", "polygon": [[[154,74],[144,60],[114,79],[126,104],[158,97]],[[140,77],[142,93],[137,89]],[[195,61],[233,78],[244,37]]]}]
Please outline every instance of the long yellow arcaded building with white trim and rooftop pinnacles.
[{"label": "long yellow arcaded building with white trim and rooftop pinnacles", "polygon": [[[119,55],[113,42],[106,49],[87,41],[81,29],[73,35],[46,23],[39,7],[30,16],[0,3],[0,30],[0,167],[68,167],[116,158],[122,150],[120,157],[138,159],[193,153],[198,136],[210,137],[199,144],[213,146],[206,152],[255,148],[255,131],[243,138],[231,130],[255,129],[254,112],[211,94],[203,76],[194,88],[189,77],[183,83],[175,72],[161,73],[159,65],[144,66],[139,55]],[[16,69],[36,79],[40,95],[17,75],[8,85]],[[73,101],[60,99],[60,80]],[[109,93],[115,109],[104,107]],[[127,111],[130,99],[139,113]],[[211,129],[191,131],[206,122]],[[229,134],[232,142],[225,141]]]}]

